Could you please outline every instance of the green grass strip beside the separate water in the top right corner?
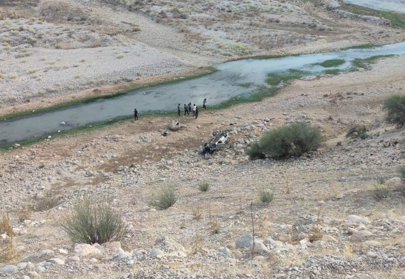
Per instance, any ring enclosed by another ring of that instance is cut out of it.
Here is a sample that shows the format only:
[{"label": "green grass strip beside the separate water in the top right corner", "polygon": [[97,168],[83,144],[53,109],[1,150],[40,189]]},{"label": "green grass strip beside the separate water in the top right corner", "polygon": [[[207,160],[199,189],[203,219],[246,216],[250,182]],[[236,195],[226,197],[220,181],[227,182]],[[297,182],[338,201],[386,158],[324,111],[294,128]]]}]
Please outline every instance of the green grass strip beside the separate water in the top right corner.
[{"label": "green grass strip beside the separate water in the top right corner", "polygon": [[367,7],[362,7],[354,4],[347,4],[339,1],[340,8],[347,12],[359,15],[383,17],[392,22],[393,25],[405,29],[405,14],[395,13],[390,11],[378,11]]}]

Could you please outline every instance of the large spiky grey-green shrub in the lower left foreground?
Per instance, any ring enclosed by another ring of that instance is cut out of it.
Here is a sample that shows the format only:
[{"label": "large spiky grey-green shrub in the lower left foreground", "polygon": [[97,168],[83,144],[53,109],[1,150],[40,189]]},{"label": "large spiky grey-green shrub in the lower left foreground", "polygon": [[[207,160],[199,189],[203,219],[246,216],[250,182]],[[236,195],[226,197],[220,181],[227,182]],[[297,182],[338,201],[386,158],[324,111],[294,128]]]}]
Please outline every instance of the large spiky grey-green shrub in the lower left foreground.
[{"label": "large spiky grey-green shrub in the lower left foreground", "polygon": [[127,234],[121,213],[112,208],[109,200],[85,198],[76,202],[61,227],[75,243],[120,241]]}]

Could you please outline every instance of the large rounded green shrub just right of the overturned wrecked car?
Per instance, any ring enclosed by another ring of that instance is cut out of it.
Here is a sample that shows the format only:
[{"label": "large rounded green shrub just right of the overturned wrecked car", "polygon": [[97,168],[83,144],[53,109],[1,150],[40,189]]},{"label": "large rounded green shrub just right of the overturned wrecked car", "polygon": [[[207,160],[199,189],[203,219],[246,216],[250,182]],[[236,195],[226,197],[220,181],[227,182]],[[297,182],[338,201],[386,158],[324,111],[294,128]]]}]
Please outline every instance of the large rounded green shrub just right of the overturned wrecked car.
[{"label": "large rounded green shrub just right of the overturned wrecked car", "polygon": [[294,122],[264,133],[259,140],[259,147],[266,157],[273,159],[300,156],[304,152],[316,150],[320,138],[320,131],[316,127],[305,122]]}]

